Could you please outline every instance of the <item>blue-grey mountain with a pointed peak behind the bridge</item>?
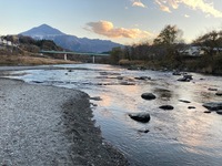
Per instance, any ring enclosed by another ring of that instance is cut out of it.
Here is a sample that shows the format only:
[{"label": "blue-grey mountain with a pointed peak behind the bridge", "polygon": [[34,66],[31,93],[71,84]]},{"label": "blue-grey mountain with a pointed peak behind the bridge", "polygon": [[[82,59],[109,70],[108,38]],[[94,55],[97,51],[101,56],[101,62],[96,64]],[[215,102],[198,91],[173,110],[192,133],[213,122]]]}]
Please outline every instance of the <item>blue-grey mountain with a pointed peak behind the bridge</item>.
[{"label": "blue-grey mountain with a pointed peak behind the bridge", "polygon": [[111,51],[112,48],[123,46],[109,40],[69,35],[48,24],[32,28],[20,34],[31,37],[36,40],[52,40],[56,44],[62,46],[63,49],[68,49],[74,52],[108,52]]}]

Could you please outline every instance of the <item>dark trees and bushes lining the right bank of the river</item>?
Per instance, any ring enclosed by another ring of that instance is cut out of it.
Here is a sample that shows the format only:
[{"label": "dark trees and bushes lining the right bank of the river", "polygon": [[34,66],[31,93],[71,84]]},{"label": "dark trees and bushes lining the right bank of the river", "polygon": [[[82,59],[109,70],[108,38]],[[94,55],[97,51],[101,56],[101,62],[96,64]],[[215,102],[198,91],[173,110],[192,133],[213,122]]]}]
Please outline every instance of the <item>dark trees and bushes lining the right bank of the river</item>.
[{"label": "dark trees and bushes lining the right bank of the river", "polygon": [[[222,30],[210,31],[185,44],[182,30],[167,25],[160,34],[149,42],[125,48],[114,48],[110,62],[133,66],[133,69],[178,70],[209,74],[222,74]],[[190,48],[199,52],[189,54]]]}]

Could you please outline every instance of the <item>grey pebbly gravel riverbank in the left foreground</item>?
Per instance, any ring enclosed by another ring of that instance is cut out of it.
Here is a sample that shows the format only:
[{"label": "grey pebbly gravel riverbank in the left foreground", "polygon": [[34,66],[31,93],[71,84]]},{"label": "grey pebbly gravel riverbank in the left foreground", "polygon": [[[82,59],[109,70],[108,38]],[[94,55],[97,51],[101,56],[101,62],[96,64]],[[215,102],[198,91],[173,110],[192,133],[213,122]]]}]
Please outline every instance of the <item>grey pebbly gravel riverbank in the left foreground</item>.
[{"label": "grey pebbly gravel riverbank in the left foreground", "polygon": [[0,79],[0,165],[128,165],[102,139],[83,92]]}]

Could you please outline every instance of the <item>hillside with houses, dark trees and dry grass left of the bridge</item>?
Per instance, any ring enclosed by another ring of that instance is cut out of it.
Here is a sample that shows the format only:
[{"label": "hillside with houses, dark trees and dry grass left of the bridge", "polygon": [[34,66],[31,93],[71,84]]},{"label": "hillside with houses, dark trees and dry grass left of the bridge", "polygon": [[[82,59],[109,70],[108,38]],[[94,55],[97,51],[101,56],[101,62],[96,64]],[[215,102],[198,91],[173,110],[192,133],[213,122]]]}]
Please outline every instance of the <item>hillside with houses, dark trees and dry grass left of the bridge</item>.
[{"label": "hillside with houses, dark trees and dry grass left of the bridge", "polygon": [[8,44],[0,43],[0,65],[41,65],[75,63],[64,61],[63,55],[46,56],[39,53],[40,50],[62,51],[53,41],[36,41],[30,37],[7,35],[1,37]]}]

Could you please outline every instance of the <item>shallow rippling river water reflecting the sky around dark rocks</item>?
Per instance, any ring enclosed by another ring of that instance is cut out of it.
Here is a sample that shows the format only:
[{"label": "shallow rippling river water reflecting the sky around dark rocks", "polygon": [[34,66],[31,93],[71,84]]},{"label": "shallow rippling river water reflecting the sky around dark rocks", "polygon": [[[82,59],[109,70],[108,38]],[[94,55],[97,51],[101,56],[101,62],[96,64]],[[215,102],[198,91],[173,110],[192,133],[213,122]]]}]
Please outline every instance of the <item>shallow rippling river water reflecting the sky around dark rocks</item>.
[{"label": "shallow rippling river water reflecting the sky around dark rocks", "polygon": [[[192,73],[193,81],[178,82],[180,76],[171,72],[129,71],[99,64],[58,66],[58,70],[14,71],[10,77],[78,89],[92,97],[99,96],[101,101],[91,101],[97,125],[132,166],[222,165],[222,115],[205,114],[202,106],[205,102],[222,102],[221,96],[208,90],[222,90],[221,76]],[[151,80],[135,80],[137,76]],[[157,100],[141,98],[145,92],[155,94]],[[159,108],[165,104],[173,105],[174,110]],[[137,112],[150,113],[151,121],[142,124],[128,116]],[[140,132],[147,129],[150,132]]]}]

